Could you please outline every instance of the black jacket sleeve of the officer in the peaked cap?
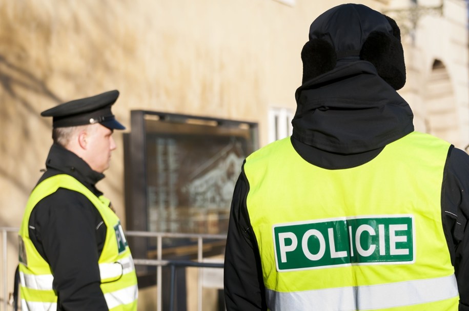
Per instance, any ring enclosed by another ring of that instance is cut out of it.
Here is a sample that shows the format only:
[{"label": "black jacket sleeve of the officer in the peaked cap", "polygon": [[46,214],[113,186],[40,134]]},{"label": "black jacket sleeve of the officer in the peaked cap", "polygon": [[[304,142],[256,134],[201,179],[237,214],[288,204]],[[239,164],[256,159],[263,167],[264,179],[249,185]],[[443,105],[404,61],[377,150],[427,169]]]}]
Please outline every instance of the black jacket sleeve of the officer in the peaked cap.
[{"label": "black jacket sleeve of the officer in the peaked cap", "polygon": [[83,194],[59,189],[33,212],[30,235],[51,266],[57,310],[108,310],[100,288],[97,238],[106,226],[95,206]]}]

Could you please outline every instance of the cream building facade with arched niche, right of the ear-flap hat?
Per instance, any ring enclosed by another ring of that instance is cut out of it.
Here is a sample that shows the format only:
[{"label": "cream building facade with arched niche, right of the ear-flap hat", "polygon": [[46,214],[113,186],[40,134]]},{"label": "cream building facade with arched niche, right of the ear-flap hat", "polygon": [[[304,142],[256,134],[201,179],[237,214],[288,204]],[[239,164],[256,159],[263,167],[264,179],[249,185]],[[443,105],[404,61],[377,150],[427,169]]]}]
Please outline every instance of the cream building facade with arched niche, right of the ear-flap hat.
[{"label": "cream building facade with arched niche, right of the ear-flap hat", "polygon": [[[417,28],[404,37],[407,83],[400,91],[414,111],[416,130],[464,149],[469,144],[467,9],[459,0],[421,0]],[[443,3],[442,11],[435,9]],[[393,2],[402,8],[402,1]],[[389,15],[396,16],[395,12]],[[402,20],[397,15],[397,19]],[[407,15],[408,16],[408,15]],[[433,70],[435,60],[443,68]]]}]

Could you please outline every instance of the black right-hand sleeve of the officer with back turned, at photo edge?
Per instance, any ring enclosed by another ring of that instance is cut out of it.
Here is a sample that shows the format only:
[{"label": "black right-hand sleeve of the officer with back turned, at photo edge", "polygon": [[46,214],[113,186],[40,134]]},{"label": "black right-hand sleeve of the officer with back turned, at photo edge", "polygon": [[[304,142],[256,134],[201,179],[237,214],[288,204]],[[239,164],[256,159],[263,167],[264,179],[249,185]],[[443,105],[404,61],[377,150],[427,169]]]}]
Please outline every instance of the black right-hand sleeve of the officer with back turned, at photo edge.
[{"label": "black right-hand sleeve of the officer with back turned, at photo edge", "polygon": [[469,311],[469,156],[450,148],[441,194],[443,230],[455,268],[459,310]]}]

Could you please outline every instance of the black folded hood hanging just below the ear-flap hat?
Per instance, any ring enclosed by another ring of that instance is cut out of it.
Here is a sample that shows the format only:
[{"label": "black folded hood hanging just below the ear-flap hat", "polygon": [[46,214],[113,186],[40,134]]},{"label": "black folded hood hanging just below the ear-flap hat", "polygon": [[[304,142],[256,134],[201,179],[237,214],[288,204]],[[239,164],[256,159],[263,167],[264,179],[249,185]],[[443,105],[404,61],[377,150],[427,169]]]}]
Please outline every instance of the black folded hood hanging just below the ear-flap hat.
[{"label": "black folded hood hanging just below the ear-flap hat", "polygon": [[295,97],[293,137],[323,151],[366,152],[414,130],[411,108],[368,61],[339,61]]}]

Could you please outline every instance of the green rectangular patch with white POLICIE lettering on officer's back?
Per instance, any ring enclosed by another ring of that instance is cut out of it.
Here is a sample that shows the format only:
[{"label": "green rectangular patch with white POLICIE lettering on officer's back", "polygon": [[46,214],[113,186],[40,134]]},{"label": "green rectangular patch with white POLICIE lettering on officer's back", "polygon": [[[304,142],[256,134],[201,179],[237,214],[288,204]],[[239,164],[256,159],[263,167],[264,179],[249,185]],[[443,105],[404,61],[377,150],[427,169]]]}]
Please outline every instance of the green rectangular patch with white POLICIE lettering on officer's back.
[{"label": "green rectangular patch with white POLICIE lettering on officer's back", "polygon": [[272,230],[277,271],[415,261],[411,215],[295,222]]}]

